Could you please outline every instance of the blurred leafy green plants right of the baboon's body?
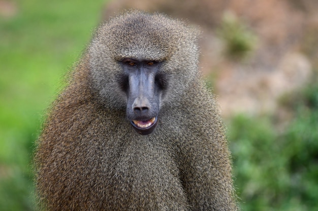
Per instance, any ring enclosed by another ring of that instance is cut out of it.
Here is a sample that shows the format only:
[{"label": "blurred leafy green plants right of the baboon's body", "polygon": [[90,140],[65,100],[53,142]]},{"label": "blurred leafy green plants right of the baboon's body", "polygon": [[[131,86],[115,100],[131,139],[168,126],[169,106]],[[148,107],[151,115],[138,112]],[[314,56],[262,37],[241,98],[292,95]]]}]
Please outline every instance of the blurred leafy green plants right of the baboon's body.
[{"label": "blurred leafy green plants right of the baboon's body", "polygon": [[318,210],[318,83],[290,95],[283,106],[294,113],[283,132],[274,116],[231,120],[242,210]]}]

